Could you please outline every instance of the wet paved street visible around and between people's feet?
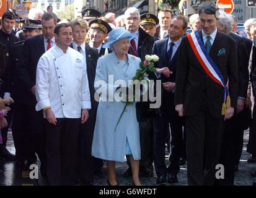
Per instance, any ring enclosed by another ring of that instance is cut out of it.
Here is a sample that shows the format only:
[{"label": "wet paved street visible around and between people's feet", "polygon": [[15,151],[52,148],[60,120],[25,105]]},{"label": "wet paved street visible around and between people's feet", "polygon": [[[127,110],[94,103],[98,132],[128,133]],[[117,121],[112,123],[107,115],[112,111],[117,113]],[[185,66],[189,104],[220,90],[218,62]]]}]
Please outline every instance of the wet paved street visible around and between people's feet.
[{"label": "wet paved street visible around and between people's feet", "polygon": [[[8,136],[8,145],[7,149],[11,153],[15,153],[14,144],[12,141],[11,132],[9,132]],[[239,163],[239,171],[236,172],[235,185],[236,186],[251,186],[254,179],[250,176],[250,171],[255,169],[256,164],[247,163],[247,159],[250,157],[249,153],[246,152],[246,145],[249,138],[249,132],[244,132],[244,150],[242,152],[241,161]],[[38,161],[38,164],[40,162]],[[166,163],[168,161],[166,160]],[[117,163],[117,180],[120,185],[129,186],[132,185],[131,178],[123,177],[123,173],[125,173],[128,166],[126,163]],[[166,184],[167,186],[185,186],[187,185],[187,166],[183,165],[180,167],[180,172],[178,174],[179,182],[175,184]],[[152,178],[141,178],[141,183],[144,186],[154,186],[156,185],[156,174]],[[22,171],[20,167],[15,164],[15,162],[4,162],[0,161],[0,186],[28,186],[28,185],[45,185],[45,182],[42,179],[42,176],[39,174],[39,179],[30,179],[29,171]],[[107,170],[104,166],[103,168],[103,176],[95,176],[94,185],[102,186],[107,185]]]}]

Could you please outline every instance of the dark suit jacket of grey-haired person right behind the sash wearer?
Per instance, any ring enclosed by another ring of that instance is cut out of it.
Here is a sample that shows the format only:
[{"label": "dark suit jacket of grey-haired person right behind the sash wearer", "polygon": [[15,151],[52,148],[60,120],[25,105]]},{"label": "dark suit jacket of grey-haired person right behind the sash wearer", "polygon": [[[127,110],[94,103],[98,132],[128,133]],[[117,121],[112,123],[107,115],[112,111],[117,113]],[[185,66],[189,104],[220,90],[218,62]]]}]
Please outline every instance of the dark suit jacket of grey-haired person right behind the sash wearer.
[{"label": "dark suit jacket of grey-haired person right behind the sash wearer", "polygon": [[234,38],[237,44],[237,60],[238,60],[238,96],[246,98],[247,89],[249,84],[249,56],[247,54],[247,49],[244,40],[241,36],[235,33],[229,33],[229,36]]}]

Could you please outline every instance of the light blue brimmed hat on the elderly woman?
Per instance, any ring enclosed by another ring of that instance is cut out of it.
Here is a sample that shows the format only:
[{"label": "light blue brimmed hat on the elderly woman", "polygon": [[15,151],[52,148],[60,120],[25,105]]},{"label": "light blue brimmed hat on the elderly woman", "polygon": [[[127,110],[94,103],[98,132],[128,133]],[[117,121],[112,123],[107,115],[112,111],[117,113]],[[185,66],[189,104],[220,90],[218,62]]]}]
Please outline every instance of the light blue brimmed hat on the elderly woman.
[{"label": "light blue brimmed hat on the elderly woman", "polygon": [[128,30],[125,30],[124,27],[117,28],[108,33],[108,41],[102,46],[102,48],[110,48],[110,45],[112,45],[118,40],[121,40],[122,38],[128,37],[129,40],[131,41],[137,35],[137,33],[130,33]]}]

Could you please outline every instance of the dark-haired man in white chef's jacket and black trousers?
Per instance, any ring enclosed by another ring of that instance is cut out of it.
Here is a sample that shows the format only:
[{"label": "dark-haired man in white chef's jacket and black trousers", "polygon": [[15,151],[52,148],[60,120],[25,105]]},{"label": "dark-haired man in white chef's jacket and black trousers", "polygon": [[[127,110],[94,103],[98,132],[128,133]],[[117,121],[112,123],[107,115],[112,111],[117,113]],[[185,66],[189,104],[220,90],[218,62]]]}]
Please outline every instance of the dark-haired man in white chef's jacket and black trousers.
[{"label": "dark-haired man in white chef's jacket and black trousers", "polygon": [[56,45],[38,61],[36,110],[46,118],[46,173],[50,185],[70,185],[76,179],[80,123],[89,117],[90,92],[86,63],[69,47],[69,24],[55,27]]}]

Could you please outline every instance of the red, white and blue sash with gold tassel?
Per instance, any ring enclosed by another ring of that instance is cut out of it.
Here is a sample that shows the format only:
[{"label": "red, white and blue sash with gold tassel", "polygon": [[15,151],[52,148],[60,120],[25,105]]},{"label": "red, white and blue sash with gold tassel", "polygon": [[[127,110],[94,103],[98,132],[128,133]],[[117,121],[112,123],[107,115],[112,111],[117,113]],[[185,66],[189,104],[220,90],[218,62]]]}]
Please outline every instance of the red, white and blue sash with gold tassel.
[{"label": "red, white and blue sash with gold tassel", "polygon": [[203,67],[206,74],[213,79],[214,82],[221,85],[224,88],[224,96],[223,96],[223,109],[221,114],[226,114],[226,108],[231,106],[231,101],[229,97],[229,79],[227,78],[227,83],[224,83],[224,78],[221,72],[219,71],[216,64],[213,62],[213,59],[209,56],[205,49],[205,45],[200,38],[198,30],[195,32],[189,33],[187,35],[190,46],[193,49],[193,52]]}]

